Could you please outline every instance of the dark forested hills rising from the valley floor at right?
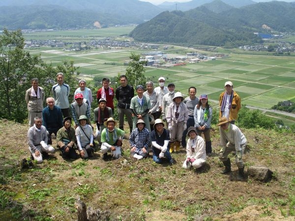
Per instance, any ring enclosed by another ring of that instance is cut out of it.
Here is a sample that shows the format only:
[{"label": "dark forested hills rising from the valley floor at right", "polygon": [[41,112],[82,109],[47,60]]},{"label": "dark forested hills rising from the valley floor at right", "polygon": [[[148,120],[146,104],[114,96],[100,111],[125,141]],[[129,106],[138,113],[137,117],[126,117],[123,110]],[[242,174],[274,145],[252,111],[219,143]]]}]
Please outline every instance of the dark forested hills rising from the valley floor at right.
[{"label": "dark forested hills rising from the valley floor at right", "polygon": [[275,31],[295,31],[295,3],[257,3],[226,13],[205,6],[186,12],[166,11],[137,26],[130,36],[138,41],[235,47],[260,42],[253,33],[267,32],[263,25]]}]

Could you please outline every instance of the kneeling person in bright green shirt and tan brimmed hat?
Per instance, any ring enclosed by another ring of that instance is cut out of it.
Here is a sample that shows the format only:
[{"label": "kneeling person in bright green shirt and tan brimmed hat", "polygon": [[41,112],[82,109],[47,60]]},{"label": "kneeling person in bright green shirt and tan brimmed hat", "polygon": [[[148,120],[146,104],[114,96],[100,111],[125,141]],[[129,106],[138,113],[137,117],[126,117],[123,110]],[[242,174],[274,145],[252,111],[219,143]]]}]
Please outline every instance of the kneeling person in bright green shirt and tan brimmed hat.
[{"label": "kneeling person in bright green shirt and tan brimmed hat", "polygon": [[100,151],[103,153],[103,159],[106,160],[108,151],[114,158],[118,159],[121,157],[121,146],[122,139],[124,138],[125,132],[121,129],[115,128],[116,121],[113,117],[107,119],[104,122],[104,128],[101,132],[101,147]]}]

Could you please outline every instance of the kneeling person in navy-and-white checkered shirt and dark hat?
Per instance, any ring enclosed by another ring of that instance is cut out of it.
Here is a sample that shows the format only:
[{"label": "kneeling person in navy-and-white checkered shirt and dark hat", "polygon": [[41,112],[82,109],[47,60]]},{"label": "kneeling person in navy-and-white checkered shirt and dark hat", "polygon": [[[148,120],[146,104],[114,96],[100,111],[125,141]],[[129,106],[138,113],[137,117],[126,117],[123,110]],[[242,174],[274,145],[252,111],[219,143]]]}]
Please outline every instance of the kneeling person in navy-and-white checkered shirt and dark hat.
[{"label": "kneeling person in navy-and-white checkered shirt and dark hat", "polygon": [[131,156],[137,160],[148,157],[148,145],[150,142],[150,133],[145,128],[144,120],[139,119],[136,123],[136,128],[132,131],[129,142],[131,146]]}]

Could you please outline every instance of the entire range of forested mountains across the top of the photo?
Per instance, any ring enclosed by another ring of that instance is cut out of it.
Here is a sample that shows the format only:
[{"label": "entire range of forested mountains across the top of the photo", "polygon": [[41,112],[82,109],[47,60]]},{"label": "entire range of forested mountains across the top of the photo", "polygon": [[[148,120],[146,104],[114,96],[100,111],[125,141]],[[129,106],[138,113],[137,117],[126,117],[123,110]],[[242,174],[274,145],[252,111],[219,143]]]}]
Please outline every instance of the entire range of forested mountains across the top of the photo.
[{"label": "entire range of forested mountains across the top of the photo", "polygon": [[295,32],[295,2],[192,0],[167,8],[139,0],[1,0],[0,29],[139,24],[130,33],[137,41],[228,47],[260,43],[254,32]]}]

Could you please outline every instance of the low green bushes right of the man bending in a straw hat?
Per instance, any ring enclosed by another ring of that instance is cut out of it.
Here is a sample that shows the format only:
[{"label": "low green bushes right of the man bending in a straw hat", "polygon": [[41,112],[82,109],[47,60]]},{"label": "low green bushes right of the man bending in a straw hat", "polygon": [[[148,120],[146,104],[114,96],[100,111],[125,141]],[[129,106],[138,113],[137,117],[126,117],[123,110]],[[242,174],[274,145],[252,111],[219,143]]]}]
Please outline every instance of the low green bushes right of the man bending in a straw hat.
[{"label": "low green bushes right of the man bending in a straw hat", "polygon": [[274,120],[262,113],[260,110],[251,111],[242,105],[238,112],[238,126],[243,128],[265,128],[272,129],[275,127]]}]

